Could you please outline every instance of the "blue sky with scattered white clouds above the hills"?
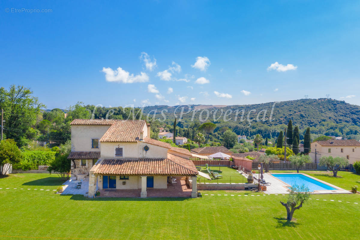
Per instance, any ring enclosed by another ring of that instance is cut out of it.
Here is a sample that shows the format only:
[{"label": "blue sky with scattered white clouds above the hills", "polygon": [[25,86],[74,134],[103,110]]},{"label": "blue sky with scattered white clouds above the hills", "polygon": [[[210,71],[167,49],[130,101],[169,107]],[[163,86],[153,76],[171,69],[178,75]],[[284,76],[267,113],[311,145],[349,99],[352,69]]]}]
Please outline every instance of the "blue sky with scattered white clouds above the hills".
[{"label": "blue sky with scattered white clouds above the hills", "polygon": [[0,18],[1,86],[48,108],[360,105],[359,1],[1,1]]}]

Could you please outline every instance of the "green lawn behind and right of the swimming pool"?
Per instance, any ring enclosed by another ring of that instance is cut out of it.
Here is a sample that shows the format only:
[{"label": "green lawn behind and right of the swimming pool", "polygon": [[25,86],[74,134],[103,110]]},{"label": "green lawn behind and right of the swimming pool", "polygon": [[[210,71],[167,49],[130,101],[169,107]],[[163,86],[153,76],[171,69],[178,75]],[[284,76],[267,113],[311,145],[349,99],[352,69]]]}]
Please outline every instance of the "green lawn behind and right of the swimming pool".
[{"label": "green lawn behind and right of the swimming pool", "polygon": [[[305,173],[311,177],[318,178],[330,184],[333,184],[337,187],[341,187],[345,190],[351,190],[351,187],[354,185],[358,186],[358,191],[360,190],[360,175],[352,172],[339,171],[337,177],[333,177],[333,172],[325,171],[299,171],[300,173]],[[273,170],[270,173],[296,173],[296,171],[278,171]]]}]

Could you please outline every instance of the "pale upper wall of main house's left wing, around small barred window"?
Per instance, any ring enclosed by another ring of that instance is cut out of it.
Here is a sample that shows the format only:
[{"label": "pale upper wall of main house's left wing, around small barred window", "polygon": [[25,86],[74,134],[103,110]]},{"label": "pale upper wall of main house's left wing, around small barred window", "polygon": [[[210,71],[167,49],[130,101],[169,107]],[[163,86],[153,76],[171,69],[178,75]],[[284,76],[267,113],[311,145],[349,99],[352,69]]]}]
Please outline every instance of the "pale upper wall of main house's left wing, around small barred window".
[{"label": "pale upper wall of main house's left wing, around small barred window", "polygon": [[91,138],[101,138],[110,128],[110,125],[72,125],[71,145],[72,151],[100,151],[99,148],[91,148]]}]

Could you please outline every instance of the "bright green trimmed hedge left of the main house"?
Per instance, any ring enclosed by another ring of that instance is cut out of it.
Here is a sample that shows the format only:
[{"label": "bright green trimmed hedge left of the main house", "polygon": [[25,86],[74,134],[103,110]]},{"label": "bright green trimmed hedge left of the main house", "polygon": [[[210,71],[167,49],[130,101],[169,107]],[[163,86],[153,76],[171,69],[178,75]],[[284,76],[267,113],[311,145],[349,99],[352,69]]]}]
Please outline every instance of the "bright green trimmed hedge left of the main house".
[{"label": "bright green trimmed hedge left of the main house", "polygon": [[39,166],[49,166],[55,160],[52,151],[25,151],[19,164],[14,164],[13,169],[37,170]]}]

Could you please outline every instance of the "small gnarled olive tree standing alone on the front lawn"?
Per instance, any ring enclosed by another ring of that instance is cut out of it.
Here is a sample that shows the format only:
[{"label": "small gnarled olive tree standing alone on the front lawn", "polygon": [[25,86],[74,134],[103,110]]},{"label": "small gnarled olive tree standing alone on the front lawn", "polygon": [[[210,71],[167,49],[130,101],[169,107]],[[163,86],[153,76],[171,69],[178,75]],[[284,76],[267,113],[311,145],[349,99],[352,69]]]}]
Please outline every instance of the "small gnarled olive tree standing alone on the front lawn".
[{"label": "small gnarled olive tree standing alone on the front lawn", "polygon": [[286,208],[288,221],[292,220],[295,210],[300,209],[302,204],[309,199],[310,190],[305,185],[293,185],[288,190],[289,195],[286,203],[280,203]]}]

